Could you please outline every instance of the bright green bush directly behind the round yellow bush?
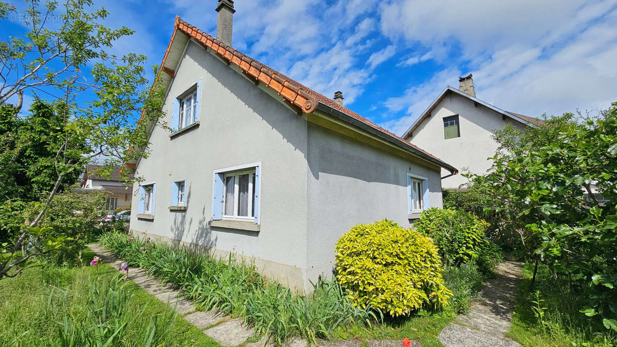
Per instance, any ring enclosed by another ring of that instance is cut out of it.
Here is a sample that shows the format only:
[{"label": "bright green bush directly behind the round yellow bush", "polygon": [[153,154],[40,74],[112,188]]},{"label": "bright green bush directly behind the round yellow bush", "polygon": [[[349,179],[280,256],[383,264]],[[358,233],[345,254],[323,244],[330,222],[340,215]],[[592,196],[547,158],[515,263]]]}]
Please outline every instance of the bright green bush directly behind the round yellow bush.
[{"label": "bright green bush directly behind the round yellow bush", "polygon": [[487,244],[487,223],[467,212],[433,207],[423,211],[413,227],[433,238],[445,265],[475,262]]}]

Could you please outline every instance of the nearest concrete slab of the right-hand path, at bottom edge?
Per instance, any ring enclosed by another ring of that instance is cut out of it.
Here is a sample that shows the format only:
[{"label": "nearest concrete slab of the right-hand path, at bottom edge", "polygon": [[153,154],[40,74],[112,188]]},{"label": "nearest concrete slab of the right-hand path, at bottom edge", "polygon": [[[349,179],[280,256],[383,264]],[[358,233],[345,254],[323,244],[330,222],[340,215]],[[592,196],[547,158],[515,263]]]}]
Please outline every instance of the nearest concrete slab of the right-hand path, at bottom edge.
[{"label": "nearest concrete slab of the right-hand path, at bottom edge", "polygon": [[439,334],[439,341],[446,347],[522,347],[509,338],[482,332],[455,323],[448,324]]}]

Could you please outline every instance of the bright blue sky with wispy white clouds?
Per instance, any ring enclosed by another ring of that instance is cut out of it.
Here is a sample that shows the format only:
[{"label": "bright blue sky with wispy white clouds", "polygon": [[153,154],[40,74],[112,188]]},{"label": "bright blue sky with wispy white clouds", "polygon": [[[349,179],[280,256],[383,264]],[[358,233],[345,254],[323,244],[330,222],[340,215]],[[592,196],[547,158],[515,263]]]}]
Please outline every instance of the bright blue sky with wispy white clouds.
[{"label": "bright blue sky with wispy white clouds", "polygon": [[[215,35],[217,2],[99,1],[135,35],[117,54],[160,64],[175,15]],[[15,3],[20,9],[23,3]],[[400,135],[471,72],[507,111],[606,109],[617,101],[617,0],[235,0],[233,46]],[[16,23],[0,23],[2,36]]]}]

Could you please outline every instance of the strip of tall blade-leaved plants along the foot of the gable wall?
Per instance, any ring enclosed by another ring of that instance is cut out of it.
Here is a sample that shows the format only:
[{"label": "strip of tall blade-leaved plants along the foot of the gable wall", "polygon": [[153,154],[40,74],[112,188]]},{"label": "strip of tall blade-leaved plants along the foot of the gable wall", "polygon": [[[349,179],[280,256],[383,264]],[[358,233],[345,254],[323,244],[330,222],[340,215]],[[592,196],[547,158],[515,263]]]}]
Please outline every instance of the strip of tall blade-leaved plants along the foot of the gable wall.
[{"label": "strip of tall blade-leaved plants along the foot of the gable wall", "polygon": [[334,280],[319,280],[310,296],[295,295],[278,283],[260,276],[252,264],[231,259],[195,255],[167,244],[131,241],[130,236],[107,233],[102,245],[112,249],[129,265],[143,267],[186,291],[204,310],[218,309],[242,317],[257,335],[281,343],[291,337],[317,342],[345,324],[381,320],[379,311],[352,305]]}]

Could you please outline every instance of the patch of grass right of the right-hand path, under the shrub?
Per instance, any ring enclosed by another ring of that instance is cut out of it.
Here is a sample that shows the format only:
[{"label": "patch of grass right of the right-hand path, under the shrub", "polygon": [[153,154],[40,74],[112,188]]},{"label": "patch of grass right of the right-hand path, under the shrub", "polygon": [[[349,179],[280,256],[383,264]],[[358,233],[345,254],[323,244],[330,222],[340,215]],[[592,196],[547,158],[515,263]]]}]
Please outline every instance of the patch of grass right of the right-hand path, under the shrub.
[{"label": "patch of grass right of the right-hand path, under the shrub", "polygon": [[[534,265],[525,264],[523,280],[516,298],[512,315],[512,327],[508,336],[523,346],[615,346],[617,334],[603,327],[600,320],[590,320],[579,312],[584,296],[562,294],[550,275],[549,269],[540,266],[536,284],[530,290]],[[537,306],[535,291],[540,292],[540,307],[544,309],[543,322],[537,319],[533,306]]]}]

